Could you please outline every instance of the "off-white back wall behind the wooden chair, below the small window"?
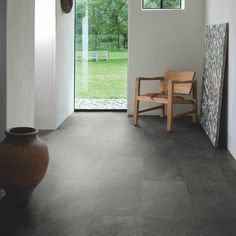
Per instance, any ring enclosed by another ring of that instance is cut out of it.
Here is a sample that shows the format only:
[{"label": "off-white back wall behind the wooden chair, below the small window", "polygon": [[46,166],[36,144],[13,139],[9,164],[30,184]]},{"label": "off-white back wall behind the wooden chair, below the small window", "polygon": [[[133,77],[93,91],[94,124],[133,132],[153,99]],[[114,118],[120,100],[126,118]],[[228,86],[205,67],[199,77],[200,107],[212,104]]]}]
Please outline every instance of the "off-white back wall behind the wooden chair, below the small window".
[{"label": "off-white back wall behind the wooden chair, below the small window", "polygon": [[[129,1],[128,114],[133,113],[136,76],[194,70],[201,81],[204,25],[205,0],[186,0],[185,10],[156,11],[143,11],[141,0]],[[149,91],[156,88],[145,85]]]}]

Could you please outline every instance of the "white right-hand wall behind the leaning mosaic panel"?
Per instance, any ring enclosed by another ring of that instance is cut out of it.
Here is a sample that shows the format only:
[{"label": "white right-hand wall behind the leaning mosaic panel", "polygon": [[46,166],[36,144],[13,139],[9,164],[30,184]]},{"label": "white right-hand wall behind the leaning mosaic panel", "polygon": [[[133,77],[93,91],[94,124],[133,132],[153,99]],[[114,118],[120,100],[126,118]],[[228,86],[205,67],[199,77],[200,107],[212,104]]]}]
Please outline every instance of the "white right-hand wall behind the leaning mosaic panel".
[{"label": "white right-hand wall behind the leaning mosaic panel", "polygon": [[236,157],[236,1],[206,0],[206,24],[229,22],[228,149]]}]

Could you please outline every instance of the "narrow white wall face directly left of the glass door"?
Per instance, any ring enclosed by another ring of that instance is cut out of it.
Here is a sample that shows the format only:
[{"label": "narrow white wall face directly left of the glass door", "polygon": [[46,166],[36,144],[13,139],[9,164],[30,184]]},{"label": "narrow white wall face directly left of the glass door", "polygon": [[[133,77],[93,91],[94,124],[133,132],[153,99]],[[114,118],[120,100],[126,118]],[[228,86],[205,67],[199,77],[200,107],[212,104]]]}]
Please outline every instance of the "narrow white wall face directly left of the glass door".
[{"label": "narrow white wall face directly left of the glass door", "polygon": [[74,6],[65,14],[60,3],[56,0],[56,127],[74,111]]}]

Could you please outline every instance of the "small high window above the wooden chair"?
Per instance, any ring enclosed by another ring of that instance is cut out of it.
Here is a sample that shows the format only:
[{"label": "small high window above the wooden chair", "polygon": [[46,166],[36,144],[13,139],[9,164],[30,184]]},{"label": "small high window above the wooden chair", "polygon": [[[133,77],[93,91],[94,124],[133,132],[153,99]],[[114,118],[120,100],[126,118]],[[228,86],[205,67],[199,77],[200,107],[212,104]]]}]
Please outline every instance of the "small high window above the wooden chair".
[{"label": "small high window above the wooden chair", "polygon": [[181,9],[181,0],[142,0],[143,9]]}]

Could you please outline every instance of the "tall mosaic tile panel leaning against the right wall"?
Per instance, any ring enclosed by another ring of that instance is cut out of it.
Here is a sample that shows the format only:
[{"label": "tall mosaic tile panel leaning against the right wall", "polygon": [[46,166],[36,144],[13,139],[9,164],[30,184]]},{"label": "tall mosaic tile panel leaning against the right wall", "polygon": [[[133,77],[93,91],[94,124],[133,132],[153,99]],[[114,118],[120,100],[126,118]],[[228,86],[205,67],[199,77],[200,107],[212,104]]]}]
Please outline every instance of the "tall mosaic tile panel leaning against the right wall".
[{"label": "tall mosaic tile panel leaning against the right wall", "polygon": [[215,147],[219,143],[227,29],[228,24],[208,25],[205,33],[200,123]]}]

